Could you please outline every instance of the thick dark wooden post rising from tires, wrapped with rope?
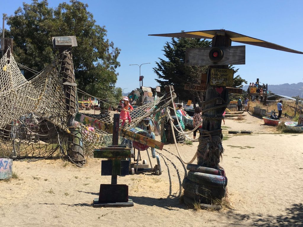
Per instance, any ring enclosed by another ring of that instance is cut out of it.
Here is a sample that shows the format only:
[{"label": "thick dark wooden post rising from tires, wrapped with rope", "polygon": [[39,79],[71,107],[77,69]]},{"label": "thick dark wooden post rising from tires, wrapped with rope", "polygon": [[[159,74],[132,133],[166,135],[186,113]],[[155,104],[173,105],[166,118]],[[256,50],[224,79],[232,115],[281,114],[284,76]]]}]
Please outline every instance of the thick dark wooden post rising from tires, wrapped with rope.
[{"label": "thick dark wooden post rising from tires, wrapped with rope", "polygon": [[[216,35],[212,39],[212,47],[228,47],[231,46],[231,39],[225,36],[225,31],[217,31]],[[218,89],[210,86],[210,71],[211,68],[222,68],[228,69],[228,65],[217,65],[210,66],[208,71],[208,81],[207,81],[207,90],[205,98],[205,107],[203,112],[203,124],[202,130],[199,137],[198,145],[198,165],[203,165],[206,167],[217,168],[219,163],[219,158],[221,152],[218,152],[219,146],[222,147],[222,133],[221,133],[221,118],[220,115],[224,112],[225,107],[214,108],[222,104],[227,104],[228,102],[228,89],[222,86]],[[221,98],[222,102],[217,102],[217,97]],[[211,109],[209,109],[211,108]],[[207,110],[208,109],[208,110]],[[205,131],[204,131],[205,130]],[[218,130],[215,133],[212,131]],[[212,139],[209,139],[209,133],[219,136],[214,140],[214,136],[211,135]],[[209,150],[206,151],[206,146],[204,145],[205,140],[209,139],[212,144],[209,146]],[[222,149],[223,152],[223,149]]]}]

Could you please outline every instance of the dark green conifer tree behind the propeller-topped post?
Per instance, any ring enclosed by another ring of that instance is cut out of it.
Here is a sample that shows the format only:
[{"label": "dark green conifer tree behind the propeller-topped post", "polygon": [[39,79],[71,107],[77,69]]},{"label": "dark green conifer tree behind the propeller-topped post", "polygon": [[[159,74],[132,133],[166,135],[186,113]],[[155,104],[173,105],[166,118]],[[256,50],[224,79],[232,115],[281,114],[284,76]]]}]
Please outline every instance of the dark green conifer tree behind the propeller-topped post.
[{"label": "dark green conifer tree behind the propeller-topped post", "polygon": [[167,60],[158,58],[157,67],[153,68],[159,79],[156,81],[162,89],[173,85],[179,99],[188,100],[195,97],[201,105],[202,92],[184,90],[184,84],[200,84],[201,74],[206,73],[208,66],[185,66],[185,50],[194,47],[209,47],[211,41],[198,38],[172,38],[164,46],[164,56]]}]

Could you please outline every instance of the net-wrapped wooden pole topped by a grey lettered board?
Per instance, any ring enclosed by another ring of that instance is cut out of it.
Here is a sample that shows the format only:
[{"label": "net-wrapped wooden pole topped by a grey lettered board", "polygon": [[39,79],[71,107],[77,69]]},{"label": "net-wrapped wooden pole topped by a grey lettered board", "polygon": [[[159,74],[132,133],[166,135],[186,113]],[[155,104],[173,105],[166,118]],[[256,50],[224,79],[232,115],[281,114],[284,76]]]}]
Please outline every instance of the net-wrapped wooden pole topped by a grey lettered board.
[{"label": "net-wrapped wooden pole topped by a grey lettered board", "polygon": [[[61,63],[61,74],[63,82],[75,84],[74,68],[72,64],[72,50],[70,47],[59,48]],[[68,134],[68,155],[72,161],[79,166],[85,164],[85,150],[83,146],[83,138],[78,123],[75,122],[74,114],[78,113],[78,98],[76,97],[76,86],[64,85],[66,110],[69,113],[68,127],[71,133]]]}]

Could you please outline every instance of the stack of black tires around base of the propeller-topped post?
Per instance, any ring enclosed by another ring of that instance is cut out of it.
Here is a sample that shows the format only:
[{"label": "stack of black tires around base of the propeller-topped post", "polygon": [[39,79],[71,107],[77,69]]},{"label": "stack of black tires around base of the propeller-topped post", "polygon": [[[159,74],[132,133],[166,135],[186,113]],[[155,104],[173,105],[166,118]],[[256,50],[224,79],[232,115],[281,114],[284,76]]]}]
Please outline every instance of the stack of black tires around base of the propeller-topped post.
[{"label": "stack of black tires around base of the propeller-topped post", "polygon": [[221,209],[212,205],[215,199],[222,199],[226,193],[227,177],[223,168],[212,169],[195,164],[188,164],[187,177],[184,178],[184,203],[192,206],[200,203],[201,208]]}]

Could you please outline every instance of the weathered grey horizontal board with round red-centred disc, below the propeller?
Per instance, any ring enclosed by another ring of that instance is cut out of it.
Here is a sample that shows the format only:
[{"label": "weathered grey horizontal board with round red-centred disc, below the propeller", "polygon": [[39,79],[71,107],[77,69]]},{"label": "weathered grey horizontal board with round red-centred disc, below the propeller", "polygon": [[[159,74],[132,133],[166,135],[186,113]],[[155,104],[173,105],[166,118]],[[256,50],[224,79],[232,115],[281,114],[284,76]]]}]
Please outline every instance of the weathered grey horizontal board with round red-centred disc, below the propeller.
[{"label": "weathered grey horizontal board with round red-centred disc, below the propeller", "polygon": [[245,46],[220,47],[223,52],[222,60],[212,62],[209,52],[213,47],[186,48],[185,65],[239,65],[245,64]]}]

